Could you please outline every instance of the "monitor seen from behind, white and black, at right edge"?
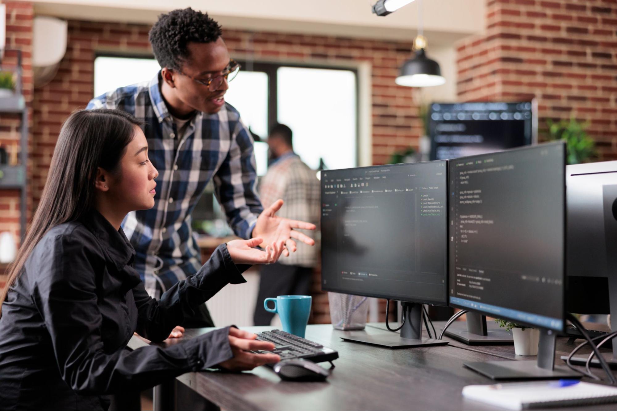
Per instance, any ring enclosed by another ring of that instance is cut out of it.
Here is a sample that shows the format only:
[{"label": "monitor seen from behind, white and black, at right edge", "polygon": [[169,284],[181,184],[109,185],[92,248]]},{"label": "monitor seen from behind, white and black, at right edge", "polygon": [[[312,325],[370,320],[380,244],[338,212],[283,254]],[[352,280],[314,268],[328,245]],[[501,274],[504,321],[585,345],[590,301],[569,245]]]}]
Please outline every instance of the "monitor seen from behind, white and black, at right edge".
[{"label": "monitor seen from behind, white and black, at right edge", "polygon": [[[617,161],[567,166],[566,198],[566,309],[611,314],[617,330]],[[617,363],[615,343],[612,357]]]}]

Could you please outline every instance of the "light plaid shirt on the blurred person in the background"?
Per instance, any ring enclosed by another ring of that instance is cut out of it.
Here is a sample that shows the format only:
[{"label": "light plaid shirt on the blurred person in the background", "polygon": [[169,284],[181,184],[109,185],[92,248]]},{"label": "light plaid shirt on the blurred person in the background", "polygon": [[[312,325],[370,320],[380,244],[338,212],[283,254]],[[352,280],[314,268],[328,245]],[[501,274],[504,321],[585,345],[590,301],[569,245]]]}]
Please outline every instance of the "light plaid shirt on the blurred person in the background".
[{"label": "light plaid shirt on the blurred person in the background", "polygon": [[[293,152],[282,155],[269,166],[268,173],[259,183],[259,198],[265,208],[283,198],[285,203],[276,213],[277,216],[311,222],[319,227],[321,185],[317,171],[310,169]],[[317,241],[318,238],[315,238]],[[278,262],[288,266],[315,267],[319,245],[296,243],[296,252],[289,254],[289,257],[281,257]]]}]

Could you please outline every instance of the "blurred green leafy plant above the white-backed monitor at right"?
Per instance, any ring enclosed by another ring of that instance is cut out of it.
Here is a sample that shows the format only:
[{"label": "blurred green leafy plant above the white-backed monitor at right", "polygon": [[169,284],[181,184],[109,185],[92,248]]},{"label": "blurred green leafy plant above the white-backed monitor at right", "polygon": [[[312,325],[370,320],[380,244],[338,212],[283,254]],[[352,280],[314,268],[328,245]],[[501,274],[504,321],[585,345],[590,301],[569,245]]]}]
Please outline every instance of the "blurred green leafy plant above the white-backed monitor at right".
[{"label": "blurred green leafy plant above the white-backed monitor at right", "polygon": [[568,164],[586,163],[597,157],[595,141],[587,134],[589,123],[581,123],[575,118],[570,120],[547,120],[549,138],[551,140],[565,140],[568,147]]}]

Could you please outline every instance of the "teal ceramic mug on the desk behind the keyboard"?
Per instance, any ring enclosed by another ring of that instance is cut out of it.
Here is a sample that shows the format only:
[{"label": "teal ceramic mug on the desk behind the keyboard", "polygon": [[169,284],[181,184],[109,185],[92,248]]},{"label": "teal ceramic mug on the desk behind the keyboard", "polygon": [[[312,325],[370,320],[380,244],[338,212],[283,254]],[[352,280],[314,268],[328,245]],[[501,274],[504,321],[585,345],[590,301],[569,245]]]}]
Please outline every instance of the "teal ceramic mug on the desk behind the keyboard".
[{"label": "teal ceramic mug on the desk behind the keyboard", "polygon": [[[312,300],[310,295],[280,295],[263,300],[263,308],[278,314],[284,332],[304,338]],[[274,303],[273,309],[268,307],[270,301]]]}]

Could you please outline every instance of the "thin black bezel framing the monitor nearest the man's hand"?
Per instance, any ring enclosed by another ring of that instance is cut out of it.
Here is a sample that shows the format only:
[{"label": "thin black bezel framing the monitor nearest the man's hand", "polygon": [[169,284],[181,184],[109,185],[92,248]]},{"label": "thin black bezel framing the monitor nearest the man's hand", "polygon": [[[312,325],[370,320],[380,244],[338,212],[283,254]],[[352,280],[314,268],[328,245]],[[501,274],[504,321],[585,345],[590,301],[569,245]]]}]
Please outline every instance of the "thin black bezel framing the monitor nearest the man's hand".
[{"label": "thin black bezel framing the monitor nearest the man's hand", "polygon": [[[357,170],[357,169],[371,169],[371,168],[383,168],[383,167],[393,167],[393,166],[406,166],[406,165],[421,165],[421,164],[437,164],[437,163],[444,163],[444,171],[445,171],[445,187],[446,187],[446,192],[445,192],[445,208],[446,208],[446,212],[445,212],[445,233],[444,233],[444,241],[445,241],[445,297],[442,301],[436,301],[436,300],[432,300],[432,299],[423,299],[423,298],[407,298],[408,296],[385,296],[384,294],[379,294],[379,293],[371,293],[371,292],[362,292],[362,293],[358,293],[357,290],[354,290],[353,293],[350,293],[349,290],[344,290],[341,288],[336,288],[336,287],[330,287],[329,285],[324,285],[323,284],[323,238],[321,240],[321,248],[320,248],[320,258],[321,258],[321,271],[320,271],[320,277],[321,277],[321,290],[322,291],[331,291],[334,293],[343,293],[343,294],[352,294],[352,295],[359,295],[359,296],[365,296],[365,297],[371,297],[371,298],[383,298],[383,299],[391,299],[394,301],[403,301],[405,303],[416,303],[416,304],[428,304],[428,305],[432,305],[432,306],[441,306],[441,307],[447,307],[448,306],[448,302],[450,299],[450,293],[449,293],[449,244],[448,244],[448,235],[449,235],[449,230],[447,227],[448,224],[448,219],[449,219],[449,213],[447,212],[447,210],[449,210],[449,198],[448,198],[448,178],[449,178],[449,166],[447,163],[447,160],[431,160],[431,161],[415,161],[412,163],[397,163],[397,164],[385,164],[385,165],[375,165],[375,166],[364,166],[364,167],[350,167],[350,168],[339,168],[339,169],[328,169],[328,170],[324,170],[322,171],[322,178],[323,178],[323,173],[328,173],[330,171],[347,171],[347,170]],[[321,195],[323,194],[323,182],[320,181],[320,198]],[[323,201],[320,201],[320,206],[321,203],[323,203]],[[321,213],[320,213],[321,214]],[[321,227],[321,218],[320,218],[320,227]]]}]

